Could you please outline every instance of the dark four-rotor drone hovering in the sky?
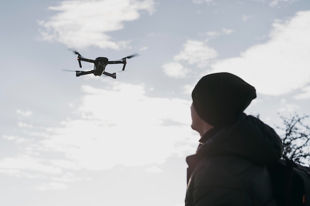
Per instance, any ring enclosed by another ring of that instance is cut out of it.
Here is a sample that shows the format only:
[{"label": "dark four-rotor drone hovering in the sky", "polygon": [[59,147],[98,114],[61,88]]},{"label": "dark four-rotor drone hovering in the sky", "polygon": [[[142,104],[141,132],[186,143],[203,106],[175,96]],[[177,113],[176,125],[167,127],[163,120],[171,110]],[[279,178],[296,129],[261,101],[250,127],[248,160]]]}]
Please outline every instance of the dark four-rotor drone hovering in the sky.
[{"label": "dark four-rotor drone hovering in the sky", "polygon": [[95,60],[92,59],[86,59],[84,57],[82,57],[82,55],[77,52],[77,51],[73,51],[77,56],[77,60],[79,62],[80,68],[82,68],[82,64],[81,61],[86,61],[86,62],[91,62],[94,63],[94,69],[91,71],[74,71],[74,70],[64,70],[64,71],[70,71],[70,72],[76,72],[76,76],[79,77],[81,75],[88,75],[88,74],[94,74],[95,76],[102,76],[102,75],[106,75],[109,77],[112,77],[113,79],[116,79],[116,73],[108,73],[105,72],[105,66],[108,64],[123,64],[123,69],[122,71],[125,70],[125,66],[127,64],[126,59],[130,59],[132,57],[138,56],[139,54],[133,54],[130,56],[126,56],[122,59],[119,60],[115,60],[115,61],[109,61],[108,58],[106,57],[97,57]]}]

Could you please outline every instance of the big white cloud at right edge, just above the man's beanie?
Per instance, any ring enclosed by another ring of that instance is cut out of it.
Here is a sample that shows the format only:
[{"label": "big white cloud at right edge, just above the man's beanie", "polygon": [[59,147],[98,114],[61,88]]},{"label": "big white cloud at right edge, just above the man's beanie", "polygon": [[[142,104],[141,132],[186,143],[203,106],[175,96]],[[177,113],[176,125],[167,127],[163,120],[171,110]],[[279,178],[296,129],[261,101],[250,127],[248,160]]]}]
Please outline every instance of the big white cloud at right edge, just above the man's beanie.
[{"label": "big white cloud at right edge, just above the man's beanie", "polygon": [[310,11],[287,22],[276,21],[270,40],[239,57],[219,60],[212,72],[230,72],[254,85],[259,93],[282,95],[310,82]]}]

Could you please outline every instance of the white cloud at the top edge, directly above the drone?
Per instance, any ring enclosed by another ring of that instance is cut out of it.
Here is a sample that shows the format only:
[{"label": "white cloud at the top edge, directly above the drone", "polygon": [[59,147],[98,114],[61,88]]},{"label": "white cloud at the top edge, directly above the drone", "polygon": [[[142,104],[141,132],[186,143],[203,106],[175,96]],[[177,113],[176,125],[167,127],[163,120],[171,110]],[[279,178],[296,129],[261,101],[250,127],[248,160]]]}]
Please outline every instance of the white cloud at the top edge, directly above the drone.
[{"label": "white cloud at the top edge, directly above the drone", "polygon": [[113,40],[107,33],[121,30],[124,22],[140,18],[140,11],[154,12],[153,0],[66,0],[49,9],[57,13],[42,26],[44,41],[58,41],[68,47],[95,45],[121,49],[128,40]]}]

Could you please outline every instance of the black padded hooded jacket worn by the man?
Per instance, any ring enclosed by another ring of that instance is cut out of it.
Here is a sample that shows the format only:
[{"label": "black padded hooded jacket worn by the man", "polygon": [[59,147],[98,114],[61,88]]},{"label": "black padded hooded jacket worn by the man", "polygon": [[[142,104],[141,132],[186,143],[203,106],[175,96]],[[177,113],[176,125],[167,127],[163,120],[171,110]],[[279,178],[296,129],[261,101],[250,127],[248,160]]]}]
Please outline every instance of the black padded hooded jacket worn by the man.
[{"label": "black padded hooded jacket worn by the man", "polygon": [[276,132],[242,114],[186,158],[186,206],[276,206],[265,165],[276,163],[281,154]]}]

